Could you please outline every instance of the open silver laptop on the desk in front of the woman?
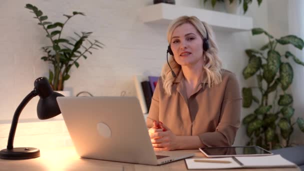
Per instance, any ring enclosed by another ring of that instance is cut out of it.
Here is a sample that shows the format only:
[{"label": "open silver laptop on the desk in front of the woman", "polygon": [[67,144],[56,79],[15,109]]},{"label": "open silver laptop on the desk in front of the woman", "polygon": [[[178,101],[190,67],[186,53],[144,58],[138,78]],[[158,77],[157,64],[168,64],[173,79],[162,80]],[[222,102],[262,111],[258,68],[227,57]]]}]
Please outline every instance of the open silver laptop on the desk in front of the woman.
[{"label": "open silver laptop on the desk in front of the woman", "polygon": [[81,157],[158,165],[194,155],[154,152],[136,97],[57,97],[57,102]]}]

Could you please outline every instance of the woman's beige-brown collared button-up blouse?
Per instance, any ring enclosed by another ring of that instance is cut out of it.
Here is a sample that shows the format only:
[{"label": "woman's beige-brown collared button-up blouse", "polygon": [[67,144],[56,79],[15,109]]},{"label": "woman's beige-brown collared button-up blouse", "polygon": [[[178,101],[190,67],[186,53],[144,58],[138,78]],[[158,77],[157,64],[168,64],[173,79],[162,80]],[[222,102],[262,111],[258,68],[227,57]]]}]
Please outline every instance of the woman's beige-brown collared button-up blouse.
[{"label": "woman's beige-brown collared button-up blouse", "polygon": [[153,93],[146,124],[161,121],[175,135],[198,135],[206,146],[232,145],[240,126],[241,94],[235,74],[222,70],[222,81],[207,86],[203,72],[201,83],[187,98],[182,70],[172,84],[172,94],[164,92],[158,79]]}]

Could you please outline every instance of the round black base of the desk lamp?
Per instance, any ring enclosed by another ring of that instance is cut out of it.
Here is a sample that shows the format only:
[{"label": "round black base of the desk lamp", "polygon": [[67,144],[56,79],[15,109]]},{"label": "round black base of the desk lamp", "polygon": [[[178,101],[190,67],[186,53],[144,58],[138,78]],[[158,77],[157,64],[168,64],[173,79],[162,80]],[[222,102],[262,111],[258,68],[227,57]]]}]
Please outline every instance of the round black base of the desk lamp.
[{"label": "round black base of the desk lamp", "polygon": [[32,147],[17,147],[12,149],[2,149],[1,159],[29,159],[40,156],[40,150]]}]

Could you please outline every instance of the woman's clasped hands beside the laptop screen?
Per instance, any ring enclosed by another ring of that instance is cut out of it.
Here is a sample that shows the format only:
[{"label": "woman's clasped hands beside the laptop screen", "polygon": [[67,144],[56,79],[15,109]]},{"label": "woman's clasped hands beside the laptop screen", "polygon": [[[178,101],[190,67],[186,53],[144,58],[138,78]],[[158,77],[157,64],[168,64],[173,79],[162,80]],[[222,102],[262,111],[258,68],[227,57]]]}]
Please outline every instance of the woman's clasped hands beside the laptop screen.
[{"label": "woman's clasped hands beside the laptop screen", "polygon": [[178,147],[177,136],[162,122],[160,127],[164,130],[151,134],[151,142],[154,150],[175,150]]}]

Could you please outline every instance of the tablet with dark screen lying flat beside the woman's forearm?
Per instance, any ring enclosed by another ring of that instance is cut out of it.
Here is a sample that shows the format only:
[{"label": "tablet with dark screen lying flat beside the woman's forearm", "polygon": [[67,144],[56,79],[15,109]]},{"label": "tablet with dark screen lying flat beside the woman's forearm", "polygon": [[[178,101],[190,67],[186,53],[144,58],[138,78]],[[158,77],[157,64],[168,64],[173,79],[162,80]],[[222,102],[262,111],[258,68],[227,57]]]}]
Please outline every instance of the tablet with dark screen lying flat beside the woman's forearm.
[{"label": "tablet with dark screen lying flat beside the woman's forearm", "polygon": [[207,157],[228,157],[228,156],[259,156],[272,155],[271,152],[259,146],[218,146],[200,147],[199,150]]}]

